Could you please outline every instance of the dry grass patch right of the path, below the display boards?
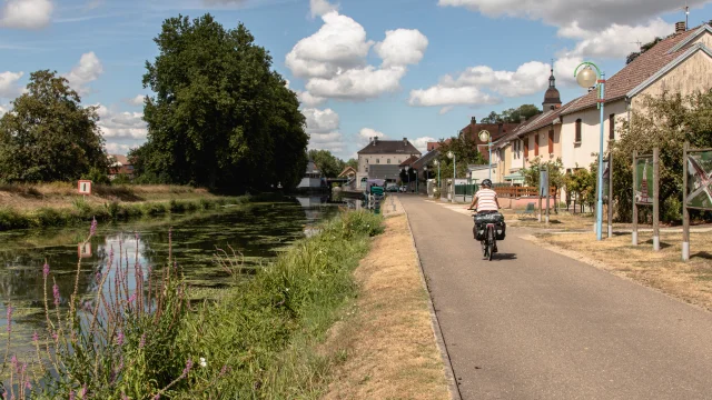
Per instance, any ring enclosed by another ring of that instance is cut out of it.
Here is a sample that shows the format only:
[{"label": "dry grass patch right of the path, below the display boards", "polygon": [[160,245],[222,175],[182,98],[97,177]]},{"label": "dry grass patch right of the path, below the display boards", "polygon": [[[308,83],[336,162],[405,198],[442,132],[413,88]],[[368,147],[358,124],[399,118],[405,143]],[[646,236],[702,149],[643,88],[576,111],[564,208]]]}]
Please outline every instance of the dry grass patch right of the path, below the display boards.
[{"label": "dry grass patch right of the path, below the display boards", "polygon": [[661,233],[660,252],[652,249],[652,232],[596,241],[593,233],[545,234],[536,240],[558,252],[657,289],[678,299],[712,311],[712,233],[691,233],[692,258],[682,261],[682,233]]}]

